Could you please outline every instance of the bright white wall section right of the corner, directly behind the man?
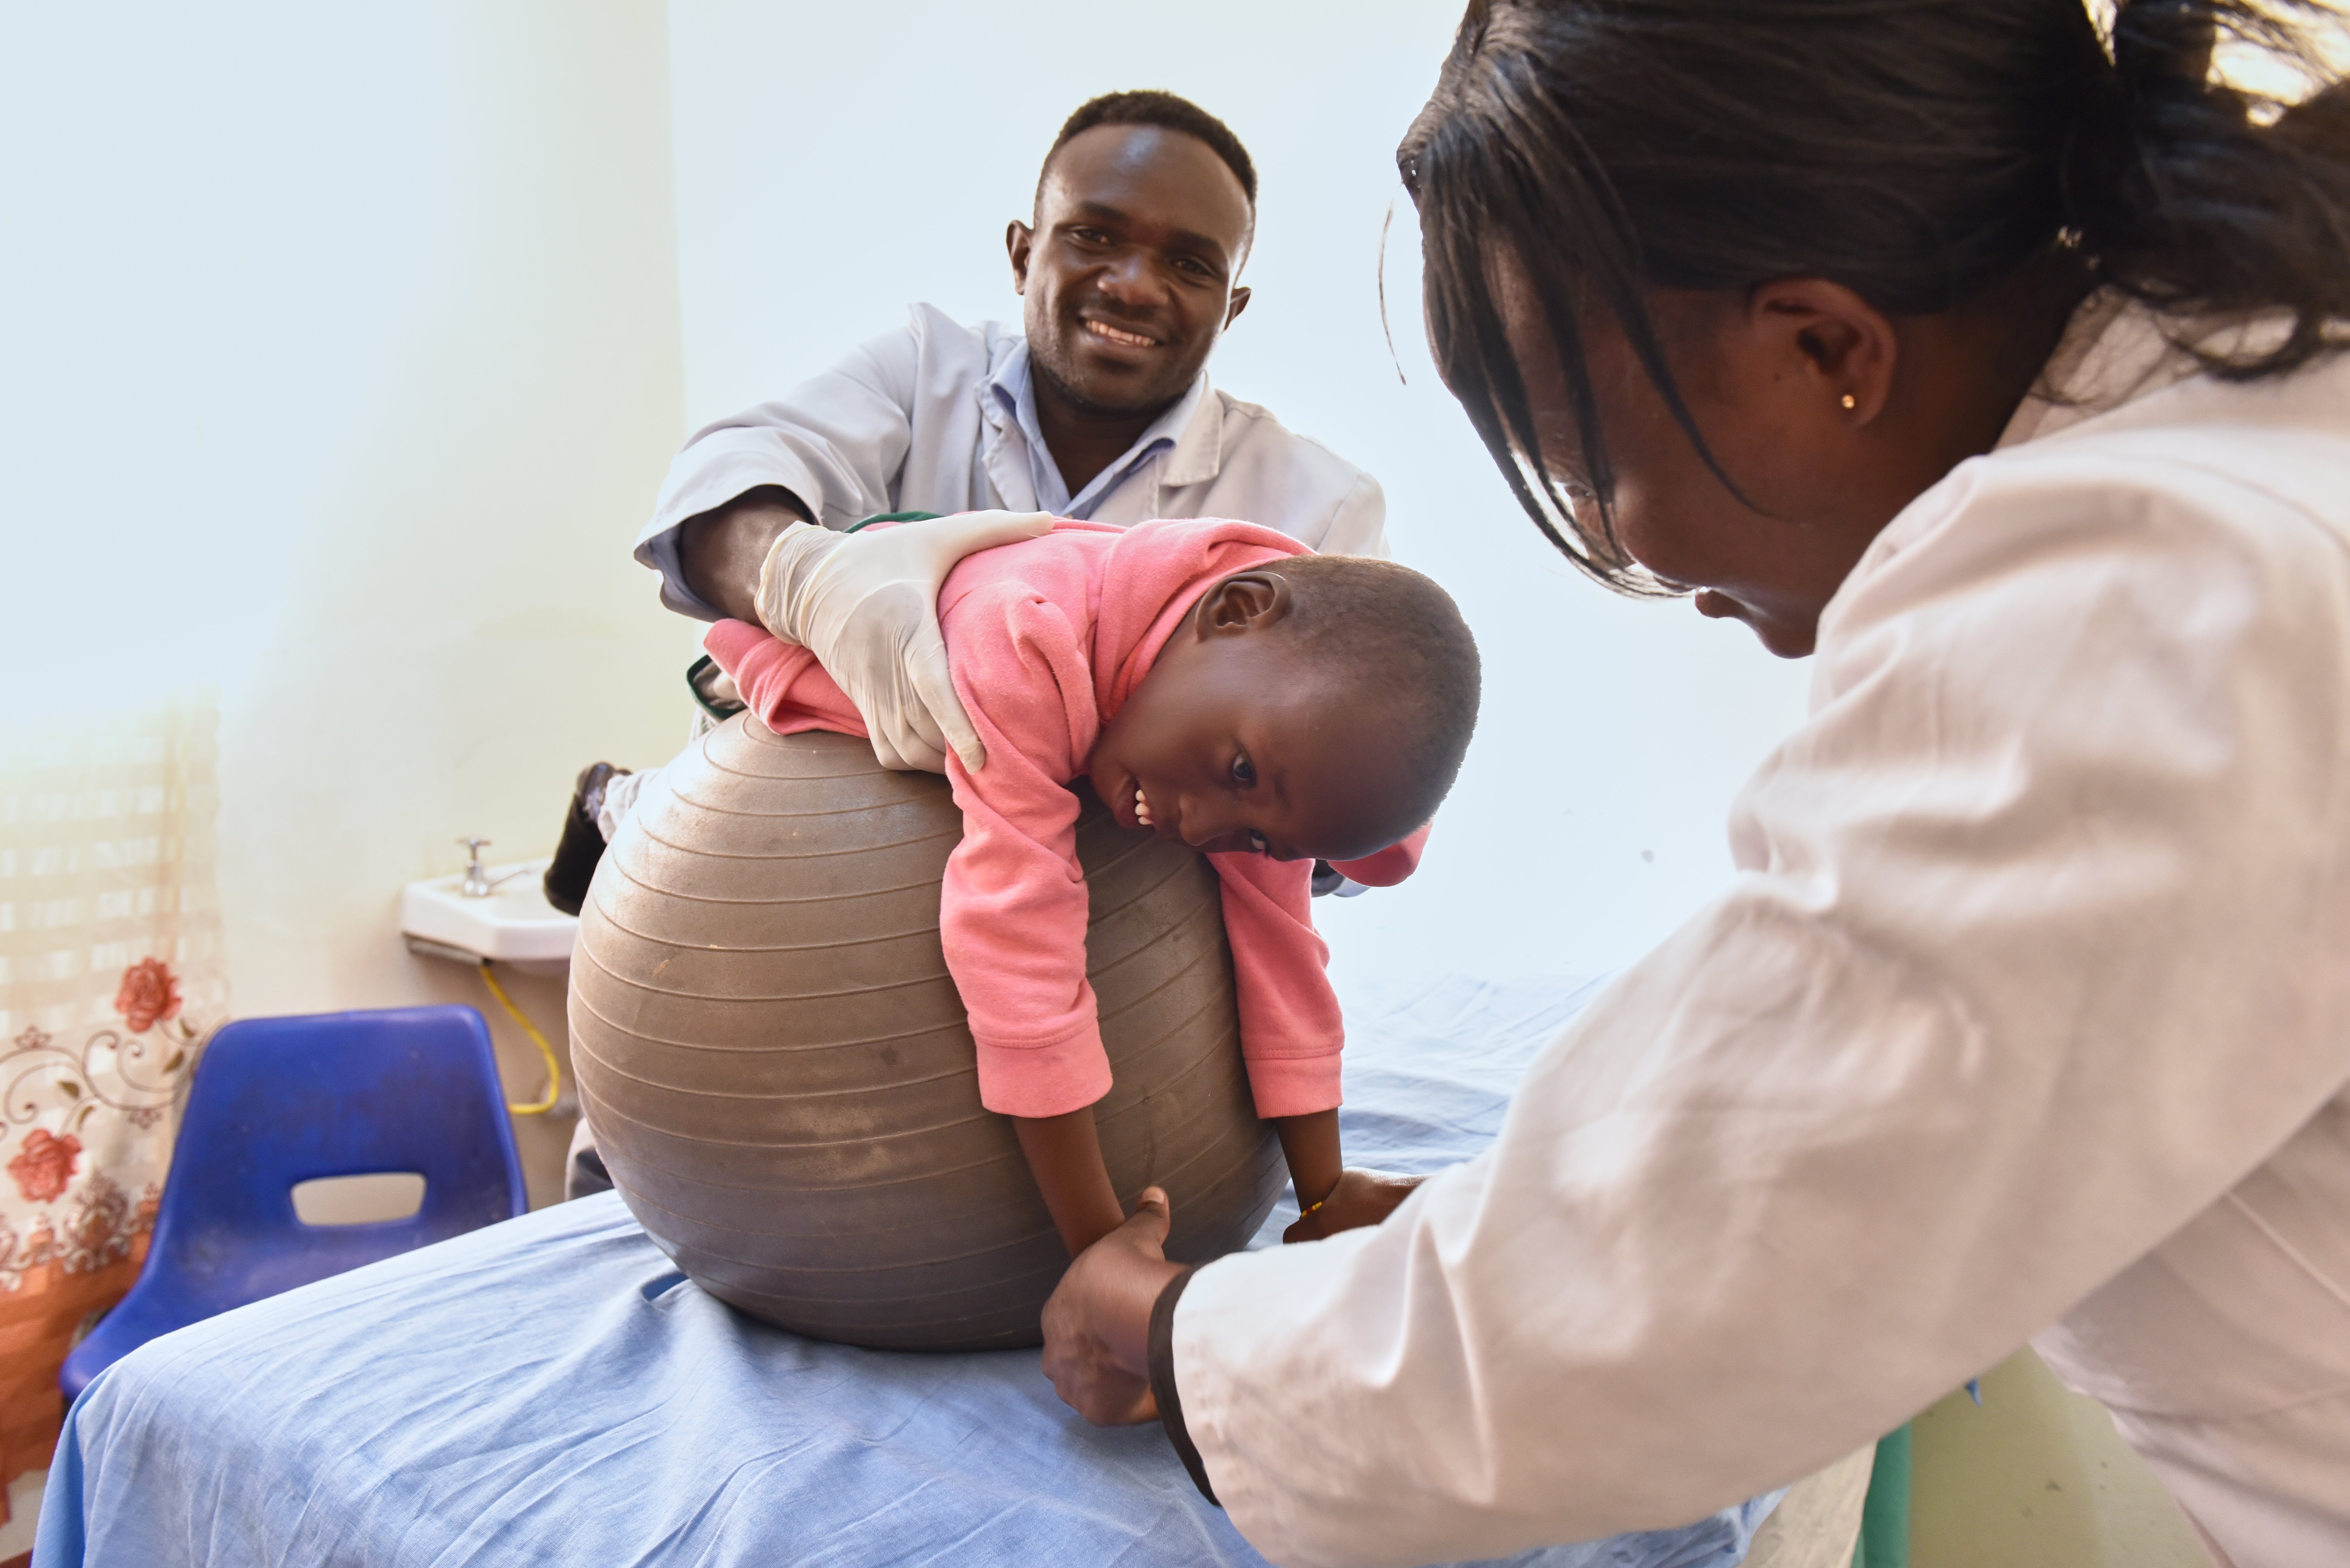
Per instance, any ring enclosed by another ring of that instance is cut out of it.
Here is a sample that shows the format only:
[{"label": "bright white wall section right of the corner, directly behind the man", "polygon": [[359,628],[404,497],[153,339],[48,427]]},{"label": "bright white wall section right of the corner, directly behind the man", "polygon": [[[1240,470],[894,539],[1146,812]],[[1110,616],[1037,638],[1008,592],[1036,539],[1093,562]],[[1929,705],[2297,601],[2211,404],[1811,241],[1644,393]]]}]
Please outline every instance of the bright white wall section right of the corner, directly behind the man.
[{"label": "bright white wall section right of the corner, directly behind the man", "polygon": [[1217,385],[1370,467],[1396,554],[1452,589],[1485,653],[1483,730],[1431,859],[1403,890],[1316,906],[1335,962],[1603,969],[1720,885],[1723,812],[1800,716],[1805,667],[1685,603],[1579,580],[1436,383],[1394,148],[1457,14],[672,0],[686,408],[703,423],[771,397],[914,298],[1018,319],[1003,223],[1027,216],[1060,120],[1121,87],[1196,99],[1262,174],[1257,298]]}]

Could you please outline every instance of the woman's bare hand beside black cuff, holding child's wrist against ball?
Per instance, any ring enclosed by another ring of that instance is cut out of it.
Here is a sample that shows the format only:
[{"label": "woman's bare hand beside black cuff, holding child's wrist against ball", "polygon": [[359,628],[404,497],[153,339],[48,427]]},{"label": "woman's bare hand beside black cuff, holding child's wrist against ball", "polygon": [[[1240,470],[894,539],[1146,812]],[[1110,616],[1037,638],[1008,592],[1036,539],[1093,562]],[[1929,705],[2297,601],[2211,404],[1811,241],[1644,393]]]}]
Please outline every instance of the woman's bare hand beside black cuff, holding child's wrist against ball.
[{"label": "woman's bare hand beside black cuff, holding child's wrist against ball", "polygon": [[1173,1214],[1161,1188],[1144,1188],[1133,1218],[1088,1246],[1043,1303],[1043,1376],[1062,1404],[1097,1427],[1156,1420],[1152,1399],[1152,1307],[1168,1279]]}]

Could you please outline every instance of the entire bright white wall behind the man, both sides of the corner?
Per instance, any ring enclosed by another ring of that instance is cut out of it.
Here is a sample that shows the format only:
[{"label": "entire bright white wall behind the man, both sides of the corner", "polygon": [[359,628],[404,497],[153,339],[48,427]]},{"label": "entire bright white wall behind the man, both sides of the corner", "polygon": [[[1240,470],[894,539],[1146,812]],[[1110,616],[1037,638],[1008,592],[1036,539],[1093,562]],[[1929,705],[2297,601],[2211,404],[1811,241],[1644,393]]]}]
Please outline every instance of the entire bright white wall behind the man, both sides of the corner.
[{"label": "entire bright white wall behind the man, both sides of the corner", "polygon": [[[1003,221],[1083,96],[1222,113],[1264,174],[1217,380],[1370,465],[1488,657],[1424,878],[1344,967],[1624,962],[1713,890],[1802,671],[1579,582],[1511,507],[1386,254],[1450,5],[496,0],[0,14],[0,723],[221,692],[237,1012],[482,1002],[392,904],[461,833],[674,749],[693,627],[625,545],[691,420],[912,298],[1018,312]],[[672,207],[674,136],[674,207]],[[682,326],[679,326],[682,324]],[[1398,383],[1401,371],[1408,378]],[[559,1026],[559,988],[522,1000]],[[536,1059],[486,1007],[512,1068]],[[524,1129],[543,1195],[559,1127]]]}]

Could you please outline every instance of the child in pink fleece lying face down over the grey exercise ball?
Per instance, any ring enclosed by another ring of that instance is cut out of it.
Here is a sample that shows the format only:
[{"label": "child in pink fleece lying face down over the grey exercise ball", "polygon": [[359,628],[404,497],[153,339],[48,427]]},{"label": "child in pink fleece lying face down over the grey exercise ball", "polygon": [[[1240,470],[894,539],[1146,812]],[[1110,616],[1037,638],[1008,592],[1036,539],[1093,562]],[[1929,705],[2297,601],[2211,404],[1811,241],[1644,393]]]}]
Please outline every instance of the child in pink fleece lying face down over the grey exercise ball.
[{"label": "child in pink fleece lying face down over the grey exercise ball", "polygon": [[[938,613],[989,758],[947,758],[964,840],[940,939],[980,1101],[1013,1117],[1062,1244],[1076,1256],[1126,1218],[1093,1129],[1109,1059],[1086,984],[1076,779],[1222,878],[1241,1052],[1302,1209],[1285,1239],[1382,1218],[1375,1178],[1340,1160],[1344,1023],[1309,878],[1316,859],[1370,885],[1417,864],[1476,728],[1459,608],[1394,561],[1210,519],[1060,521],[968,556]],[[806,648],[733,620],[705,648],[771,730],[865,735]]]}]

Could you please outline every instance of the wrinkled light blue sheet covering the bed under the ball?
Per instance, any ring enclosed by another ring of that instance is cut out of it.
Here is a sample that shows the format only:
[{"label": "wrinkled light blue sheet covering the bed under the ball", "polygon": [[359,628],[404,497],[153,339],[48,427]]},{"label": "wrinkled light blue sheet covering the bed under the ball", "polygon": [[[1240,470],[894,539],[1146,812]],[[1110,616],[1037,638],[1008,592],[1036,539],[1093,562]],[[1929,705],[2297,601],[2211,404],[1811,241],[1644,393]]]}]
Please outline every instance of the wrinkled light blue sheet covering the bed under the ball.
[{"label": "wrinkled light blue sheet covering the bed under the ball", "polygon": [[[1347,998],[1347,1150],[1476,1153],[1567,976]],[[1295,1216],[1276,1211],[1260,1242]],[[1772,1498],[1539,1568],[1725,1568]],[[804,1340],[703,1296],[604,1195],[164,1336],[66,1420],[35,1568],[197,1563],[1260,1566],[1159,1427],[1100,1432],[1036,1352]]]}]

